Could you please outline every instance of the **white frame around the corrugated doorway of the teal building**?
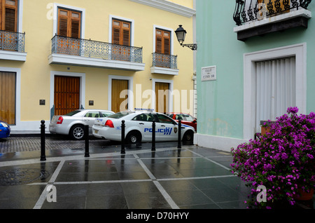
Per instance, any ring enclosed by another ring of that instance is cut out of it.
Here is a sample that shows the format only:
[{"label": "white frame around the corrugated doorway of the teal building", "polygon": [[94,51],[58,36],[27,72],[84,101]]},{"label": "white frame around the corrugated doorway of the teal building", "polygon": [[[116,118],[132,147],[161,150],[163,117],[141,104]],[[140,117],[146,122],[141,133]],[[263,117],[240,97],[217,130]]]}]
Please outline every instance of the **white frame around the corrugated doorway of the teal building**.
[{"label": "white frame around the corrugated doorway of the teal building", "polygon": [[244,54],[244,140],[250,140],[255,130],[255,62],[295,56],[295,101],[300,114],[307,111],[307,44],[300,43]]}]

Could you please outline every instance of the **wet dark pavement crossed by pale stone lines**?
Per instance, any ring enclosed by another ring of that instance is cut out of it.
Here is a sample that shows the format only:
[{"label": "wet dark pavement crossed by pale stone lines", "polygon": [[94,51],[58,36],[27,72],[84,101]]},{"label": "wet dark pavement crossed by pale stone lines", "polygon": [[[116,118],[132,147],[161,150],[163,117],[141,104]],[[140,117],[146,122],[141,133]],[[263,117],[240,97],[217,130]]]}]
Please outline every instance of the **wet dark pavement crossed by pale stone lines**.
[{"label": "wet dark pavement crossed by pale stone lines", "polygon": [[40,145],[1,152],[1,209],[246,209],[250,191],[230,172],[228,152],[167,142],[121,154],[119,144],[90,140],[85,157],[82,141],[61,149],[50,140],[46,161]]}]

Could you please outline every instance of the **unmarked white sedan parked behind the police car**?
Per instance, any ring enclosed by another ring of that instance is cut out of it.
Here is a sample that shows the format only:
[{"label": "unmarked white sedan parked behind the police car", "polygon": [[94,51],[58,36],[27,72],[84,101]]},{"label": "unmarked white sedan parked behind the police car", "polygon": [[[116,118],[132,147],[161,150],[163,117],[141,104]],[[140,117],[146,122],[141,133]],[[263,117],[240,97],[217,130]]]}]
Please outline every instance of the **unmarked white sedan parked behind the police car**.
[{"label": "unmarked white sedan parked behind the police car", "polygon": [[96,109],[80,109],[62,116],[52,116],[49,131],[52,134],[70,135],[73,140],[83,140],[85,125],[89,126],[89,133],[92,134],[94,120],[111,114],[114,114],[114,112]]}]

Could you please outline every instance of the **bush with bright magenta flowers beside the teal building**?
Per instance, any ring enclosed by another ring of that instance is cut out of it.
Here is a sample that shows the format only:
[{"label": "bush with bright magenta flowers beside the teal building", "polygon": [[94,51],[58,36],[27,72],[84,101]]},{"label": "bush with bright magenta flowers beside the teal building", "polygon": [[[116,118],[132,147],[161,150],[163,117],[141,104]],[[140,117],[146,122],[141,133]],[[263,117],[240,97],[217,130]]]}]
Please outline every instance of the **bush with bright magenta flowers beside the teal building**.
[{"label": "bush with bright magenta flowers beside the teal building", "polygon": [[[277,203],[295,205],[298,189],[309,191],[315,184],[315,113],[297,114],[289,107],[288,114],[264,123],[270,132],[260,139],[249,140],[232,148],[232,173],[251,187],[248,208],[274,208]],[[258,202],[266,188],[265,201]]]}]

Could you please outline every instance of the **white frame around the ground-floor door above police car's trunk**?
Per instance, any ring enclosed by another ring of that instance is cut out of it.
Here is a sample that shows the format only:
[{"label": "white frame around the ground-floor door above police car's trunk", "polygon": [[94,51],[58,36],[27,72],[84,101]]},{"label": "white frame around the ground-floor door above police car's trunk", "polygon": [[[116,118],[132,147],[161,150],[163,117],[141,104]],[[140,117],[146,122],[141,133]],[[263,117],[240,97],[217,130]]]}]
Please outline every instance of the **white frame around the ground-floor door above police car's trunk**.
[{"label": "white frame around the ground-floor door above police car's trunk", "polygon": [[108,108],[111,111],[111,83],[112,80],[127,80],[129,84],[128,89],[128,110],[134,110],[134,78],[132,76],[119,76],[119,75],[109,75],[109,93],[108,93]]}]

